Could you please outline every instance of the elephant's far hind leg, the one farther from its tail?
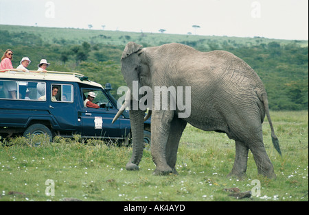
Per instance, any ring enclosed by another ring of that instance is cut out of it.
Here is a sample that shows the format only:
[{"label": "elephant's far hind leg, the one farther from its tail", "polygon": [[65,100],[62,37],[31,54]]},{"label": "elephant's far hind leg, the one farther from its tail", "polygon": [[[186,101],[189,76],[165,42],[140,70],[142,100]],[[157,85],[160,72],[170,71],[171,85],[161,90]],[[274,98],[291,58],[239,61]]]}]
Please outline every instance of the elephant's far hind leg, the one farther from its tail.
[{"label": "elephant's far hind leg, the one farther from its tail", "polygon": [[236,140],[236,157],[233,168],[228,177],[236,176],[238,178],[242,178],[246,175],[248,152],[249,147],[247,147],[243,142]]}]

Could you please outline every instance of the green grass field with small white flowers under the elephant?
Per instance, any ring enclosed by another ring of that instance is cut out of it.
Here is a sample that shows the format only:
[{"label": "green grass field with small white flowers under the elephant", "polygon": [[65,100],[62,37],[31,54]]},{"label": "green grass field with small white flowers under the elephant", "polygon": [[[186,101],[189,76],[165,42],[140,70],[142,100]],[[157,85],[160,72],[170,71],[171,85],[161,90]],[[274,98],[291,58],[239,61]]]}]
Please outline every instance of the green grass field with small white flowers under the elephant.
[{"label": "green grass field with small white flowers under the elephant", "polygon": [[[41,147],[25,138],[3,140],[0,147],[0,201],[308,201],[308,111],[271,112],[282,157],[263,124],[264,143],[277,179],[258,175],[249,153],[247,177],[229,179],[235,144],[225,134],[188,125],[181,138],[176,168],[179,175],[152,175],[155,164],[144,151],[140,170],[125,169],[131,148],[98,140],[84,144],[38,136]],[[258,186],[260,184],[260,190]],[[251,198],[229,197],[227,188],[253,191]],[[260,193],[259,193],[260,191]]]}]

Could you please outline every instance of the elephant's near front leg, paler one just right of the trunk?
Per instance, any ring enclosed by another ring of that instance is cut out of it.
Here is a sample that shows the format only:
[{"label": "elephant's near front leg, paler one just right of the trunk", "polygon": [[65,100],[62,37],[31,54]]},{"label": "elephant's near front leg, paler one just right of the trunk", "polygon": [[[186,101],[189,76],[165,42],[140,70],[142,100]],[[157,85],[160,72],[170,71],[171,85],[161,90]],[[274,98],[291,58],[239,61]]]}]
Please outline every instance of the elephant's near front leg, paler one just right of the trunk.
[{"label": "elephant's near front leg, paler one just right of the trunk", "polygon": [[170,136],[170,124],[173,117],[172,111],[152,111],[151,154],[157,166],[154,175],[168,175],[173,172],[166,160],[166,144]]}]

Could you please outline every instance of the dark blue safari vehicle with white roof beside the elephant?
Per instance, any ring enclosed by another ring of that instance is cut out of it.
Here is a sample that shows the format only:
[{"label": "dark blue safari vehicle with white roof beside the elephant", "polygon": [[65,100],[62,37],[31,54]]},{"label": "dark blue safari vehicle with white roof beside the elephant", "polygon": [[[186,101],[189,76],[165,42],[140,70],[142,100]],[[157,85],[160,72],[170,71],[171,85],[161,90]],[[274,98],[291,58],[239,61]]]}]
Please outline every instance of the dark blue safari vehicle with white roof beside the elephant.
[{"label": "dark blue safari vehicle with white roof beside the elephant", "polygon": [[[53,97],[52,90],[58,88]],[[47,134],[65,138],[108,138],[130,142],[130,118],[125,111],[115,123],[117,101],[105,88],[78,73],[0,71],[0,136]],[[88,93],[100,108],[85,108]],[[150,121],[145,122],[145,142],[150,143]]]}]

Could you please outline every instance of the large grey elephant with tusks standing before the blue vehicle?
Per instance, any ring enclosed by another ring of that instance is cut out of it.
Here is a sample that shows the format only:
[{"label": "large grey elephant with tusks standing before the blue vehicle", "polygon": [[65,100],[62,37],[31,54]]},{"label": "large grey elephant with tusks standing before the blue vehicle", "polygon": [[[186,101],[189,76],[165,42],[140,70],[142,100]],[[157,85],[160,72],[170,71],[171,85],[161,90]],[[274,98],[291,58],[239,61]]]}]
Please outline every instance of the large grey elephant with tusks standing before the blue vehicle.
[{"label": "large grey elephant with tusks standing before the blue vehicle", "polygon": [[[262,136],[266,114],[273,146],[281,155],[269,114],[266,90],[258,74],[246,62],[227,51],[201,52],[178,43],[143,48],[135,42],[128,42],[121,63],[122,75],[129,90],[114,121],[125,108],[130,108],[133,155],[126,164],[127,170],[139,169],[144,151],[145,111],[133,108],[133,103],[141,99],[140,94],[133,94],[134,88],[148,86],[155,90],[156,86],[190,86],[191,112],[187,116],[180,117],[183,110],[171,108],[172,100],[168,108],[161,109],[152,102],[150,151],[156,165],[154,175],[178,174],[175,165],[179,141],[185,126],[190,123],[204,131],[225,133],[235,140],[236,157],[228,176],[246,175],[250,149],[258,174],[276,177]],[[170,97],[175,96],[170,93]],[[155,99],[158,98],[152,94],[152,101]]]}]

